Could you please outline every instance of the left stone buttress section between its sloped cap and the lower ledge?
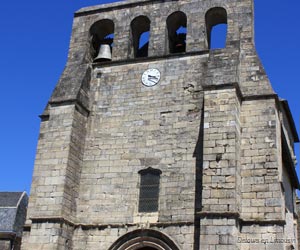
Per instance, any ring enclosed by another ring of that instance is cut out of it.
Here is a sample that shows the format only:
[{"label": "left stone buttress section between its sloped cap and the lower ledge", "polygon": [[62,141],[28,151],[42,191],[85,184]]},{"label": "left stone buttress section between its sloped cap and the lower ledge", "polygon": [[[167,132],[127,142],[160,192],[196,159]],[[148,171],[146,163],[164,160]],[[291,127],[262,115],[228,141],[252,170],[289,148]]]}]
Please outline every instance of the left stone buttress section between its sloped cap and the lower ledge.
[{"label": "left stone buttress section between its sloped cap and the lower ledge", "polygon": [[84,118],[78,116],[74,105],[53,107],[50,119],[41,125],[28,219],[74,218],[72,199],[79,180],[85,126]]}]

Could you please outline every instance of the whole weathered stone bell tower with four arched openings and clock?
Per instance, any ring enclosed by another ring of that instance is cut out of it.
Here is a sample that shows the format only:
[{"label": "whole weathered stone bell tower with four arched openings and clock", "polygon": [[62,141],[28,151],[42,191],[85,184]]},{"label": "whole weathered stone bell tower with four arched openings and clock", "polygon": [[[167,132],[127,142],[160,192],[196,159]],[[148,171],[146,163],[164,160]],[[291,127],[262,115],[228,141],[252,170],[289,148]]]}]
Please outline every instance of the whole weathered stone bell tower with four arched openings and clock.
[{"label": "whole weathered stone bell tower with four arched openings and clock", "polygon": [[253,33],[252,0],[76,12],[22,249],[297,249],[298,135]]}]

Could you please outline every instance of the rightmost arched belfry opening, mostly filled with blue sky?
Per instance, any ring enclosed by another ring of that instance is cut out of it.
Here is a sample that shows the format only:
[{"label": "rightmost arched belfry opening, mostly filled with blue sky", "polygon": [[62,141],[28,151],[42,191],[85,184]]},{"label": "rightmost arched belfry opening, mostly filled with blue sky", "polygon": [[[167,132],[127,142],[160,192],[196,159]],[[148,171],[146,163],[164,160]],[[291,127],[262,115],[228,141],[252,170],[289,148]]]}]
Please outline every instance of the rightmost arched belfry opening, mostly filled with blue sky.
[{"label": "rightmost arched belfry opening, mostly filled with blue sky", "polygon": [[205,15],[207,42],[209,49],[225,48],[227,37],[227,12],[215,7]]}]

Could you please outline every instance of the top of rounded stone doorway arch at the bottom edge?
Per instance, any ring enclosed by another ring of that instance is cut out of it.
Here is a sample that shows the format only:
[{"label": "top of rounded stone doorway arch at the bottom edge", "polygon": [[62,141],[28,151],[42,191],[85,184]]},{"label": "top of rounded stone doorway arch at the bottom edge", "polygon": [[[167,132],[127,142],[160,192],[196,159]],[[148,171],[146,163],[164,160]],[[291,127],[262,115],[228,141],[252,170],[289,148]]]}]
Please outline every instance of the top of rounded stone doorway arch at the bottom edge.
[{"label": "top of rounded stone doorway arch at the bottom edge", "polygon": [[179,250],[179,248],[161,232],[140,229],[120,237],[109,250]]}]

